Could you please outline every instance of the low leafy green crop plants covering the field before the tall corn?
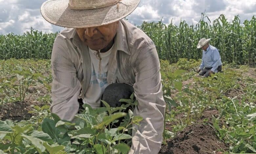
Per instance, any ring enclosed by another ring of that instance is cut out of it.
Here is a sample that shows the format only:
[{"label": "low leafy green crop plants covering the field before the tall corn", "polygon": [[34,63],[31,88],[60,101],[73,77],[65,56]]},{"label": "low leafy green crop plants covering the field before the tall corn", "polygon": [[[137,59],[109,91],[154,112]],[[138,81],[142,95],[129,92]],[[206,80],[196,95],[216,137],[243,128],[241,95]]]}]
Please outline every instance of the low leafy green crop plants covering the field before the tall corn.
[{"label": "low leafy green crop plants covering the field before the tall corn", "polygon": [[[33,72],[24,75],[27,79],[32,79],[34,73],[44,74],[45,69],[50,69],[49,61],[39,61],[45,65],[39,65],[38,61],[33,60],[11,59],[2,62],[4,63],[0,64],[3,64],[3,69],[0,73],[6,78],[6,83],[9,83],[13,73],[17,73],[15,70],[25,70],[26,63],[31,64]],[[202,119],[205,110],[218,110],[217,117],[205,118],[203,123],[216,130],[220,141],[228,145],[228,152],[256,152],[256,81],[255,78],[242,75],[250,73],[252,68],[241,66],[234,71],[230,65],[224,67],[224,73],[202,78],[193,71],[199,64],[200,61],[193,59],[180,59],[172,65],[168,61],[161,61],[163,93],[167,106],[165,124],[172,123],[172,129],[164,131],[163,144],[186,126]],[[47,78],[39,76],[32,82],[39,84],[40,79],[47,83]],[[188,79],[191,81],[185,84]],[[230,96],[236,90],[243,93]],[[17,98],[19,99],[19,95]],[[130,100],[123,101],[128,105],[138,103],[134,95]],[[139,125],[142,118],[133,115],[132,110],[128,114],[121,113],[127,106],[110,108],[106,102],[104,104],[106,107],[98,109],[84,105],[84,112],[76,115],[73,122],[62,121],[51,114],[48,105],[34,106],[31,112],[36,115],[27,121],[0,121],[0,153],[126,153],[131,145],[131,126]],[[115,111],[118,113],[114,113]],[[177,115],[182,115],[182,118],[177,119]],[[125,117],[123,123],[119,127],[112,127],[119,117]]]}]

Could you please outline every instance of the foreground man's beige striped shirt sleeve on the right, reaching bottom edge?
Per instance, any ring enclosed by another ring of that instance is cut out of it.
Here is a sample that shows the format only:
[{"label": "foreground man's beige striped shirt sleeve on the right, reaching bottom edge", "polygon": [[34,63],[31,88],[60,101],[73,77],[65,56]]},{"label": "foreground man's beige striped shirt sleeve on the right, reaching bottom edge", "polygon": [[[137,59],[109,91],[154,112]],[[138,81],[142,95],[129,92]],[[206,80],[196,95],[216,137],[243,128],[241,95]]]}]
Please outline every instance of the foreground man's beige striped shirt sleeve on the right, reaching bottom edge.
[{"label": "foreground man's beige striped shirt sleeve on the right, reaching bottom edge", "polygon": [[129,154],[157,154],[162,143],[165,102],[162,95],[160,62],[154,44],[143,48],[134,64],[134,115],[143,117],[140,126],[133,125]]}]

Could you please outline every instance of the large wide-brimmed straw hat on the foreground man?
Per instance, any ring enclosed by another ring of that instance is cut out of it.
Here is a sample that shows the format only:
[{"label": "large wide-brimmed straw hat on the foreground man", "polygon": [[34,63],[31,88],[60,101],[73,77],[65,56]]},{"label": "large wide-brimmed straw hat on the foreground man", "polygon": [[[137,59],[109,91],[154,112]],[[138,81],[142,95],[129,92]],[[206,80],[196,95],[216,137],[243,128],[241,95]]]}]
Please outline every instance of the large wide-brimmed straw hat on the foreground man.
[{"label": "large wide-brimmed straw hat on the foreground man", "polygon": [[140,0],[48,0],[41,14],[48,22],[67,28],[87,28],[118,21],[139,5]]}]

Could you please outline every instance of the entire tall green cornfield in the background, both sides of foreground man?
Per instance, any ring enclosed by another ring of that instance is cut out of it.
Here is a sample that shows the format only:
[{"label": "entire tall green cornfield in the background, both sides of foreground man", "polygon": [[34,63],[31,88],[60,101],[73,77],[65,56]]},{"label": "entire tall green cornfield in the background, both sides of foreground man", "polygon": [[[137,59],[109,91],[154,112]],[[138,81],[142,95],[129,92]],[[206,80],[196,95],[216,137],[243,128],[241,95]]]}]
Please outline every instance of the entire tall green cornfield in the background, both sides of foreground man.
[{"label": "entire tall green cornfield in the background, both sides of foreground man", "polygon": [[[202,13],[196,25],[181,21],[179,26],[168,26],[144,22],[142,29],[154,42],[159,58],[176,63],[179,58],[200,59],[202,52],[197,49],[198,41],[211,38],[211,45],[219,49],[222,62],[234,64],[255,64],[256,60],[256,18],[241,23],[235,16],[228,22],[220,15],[213,22]],[[0,35],[0,59],[40,58],[50,59],[53,42],[57,33],[45,34],[31,29],[23,35]]]}]

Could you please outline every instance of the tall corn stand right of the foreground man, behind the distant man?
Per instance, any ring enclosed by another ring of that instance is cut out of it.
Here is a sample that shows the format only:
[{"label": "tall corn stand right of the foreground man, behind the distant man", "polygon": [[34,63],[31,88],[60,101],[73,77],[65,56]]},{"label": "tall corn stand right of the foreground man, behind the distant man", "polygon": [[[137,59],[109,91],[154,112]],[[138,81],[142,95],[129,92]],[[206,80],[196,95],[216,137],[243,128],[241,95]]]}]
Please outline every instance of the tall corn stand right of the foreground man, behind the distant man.
[{"label": "tall corn stand right of the foreground man, behind the distant man", "polygon": [[245,20],[235,16],[228,22],[225,15],[220,15],[213,22],[202,13],[196,25],[189,26],[181,21],[179,26],[168,26],[144,22],[139,26],[154,42],[160,59],[176,63],[179,58],[200,59],[202,50],[197,49],[198,41],[211,38],[210,44],[219,49],[222,62],[234,64],[255,64],[256,60],[256,18]]}]

